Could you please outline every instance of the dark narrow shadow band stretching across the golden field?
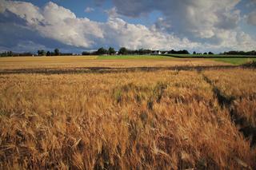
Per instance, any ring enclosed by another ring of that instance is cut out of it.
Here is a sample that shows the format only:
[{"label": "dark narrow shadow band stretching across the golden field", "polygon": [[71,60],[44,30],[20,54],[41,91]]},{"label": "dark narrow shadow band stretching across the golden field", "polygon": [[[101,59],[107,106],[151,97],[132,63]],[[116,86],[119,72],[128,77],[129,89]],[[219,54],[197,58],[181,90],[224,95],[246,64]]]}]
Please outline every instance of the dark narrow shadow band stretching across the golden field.
[{"label": "dark narrow shadow band stretching across the golden field", "polygon": [[126,73],[136,71],[157,71],[157,70],[197,70],[202,71],[206,69],[234,69],[246,68],[238,65],[207,65],[207,66],[170,66],[170,67],[78,67],[78,68],[49,68],[49,69],[0,69],[0,74],[12,73],[44,73],[44,74],[63,74],[63,73]]}]

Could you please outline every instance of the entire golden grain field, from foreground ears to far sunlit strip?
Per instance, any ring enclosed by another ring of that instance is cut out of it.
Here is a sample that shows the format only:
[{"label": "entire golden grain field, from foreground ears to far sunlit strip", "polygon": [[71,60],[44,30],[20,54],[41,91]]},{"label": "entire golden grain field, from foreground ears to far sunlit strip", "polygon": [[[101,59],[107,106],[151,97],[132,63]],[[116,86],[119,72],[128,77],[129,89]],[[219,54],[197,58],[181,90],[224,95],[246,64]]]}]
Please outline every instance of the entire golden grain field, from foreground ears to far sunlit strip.
[{"label": "entire golden grain field, from foreground ears to far sunlit strip", "polygon": [[255,85],[209,59],[0,58],[0,169],[254,169]]}]

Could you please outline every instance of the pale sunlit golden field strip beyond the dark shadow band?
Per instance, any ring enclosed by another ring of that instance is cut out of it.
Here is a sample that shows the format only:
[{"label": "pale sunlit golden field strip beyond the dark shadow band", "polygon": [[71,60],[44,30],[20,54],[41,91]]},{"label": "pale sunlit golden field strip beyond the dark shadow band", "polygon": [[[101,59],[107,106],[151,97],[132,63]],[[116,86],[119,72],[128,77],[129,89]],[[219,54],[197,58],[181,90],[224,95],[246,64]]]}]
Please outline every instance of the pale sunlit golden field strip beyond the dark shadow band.
[{"label": "pale sunlit golden field strip beyond the dark shadow band", "polygon": [[[104,57],[104,59],[102,59]],[[70,69],[86,67],[167,67],[167,66],[195,66],[195,65],[230,65],[221,61],[211,61],[197,58],[173,57],[116,57],[83,56],[83,57],[0,57],[2,69]],[[156,58],[155,58],[156,57]],[[154,59],[153,59],[154,58]]]}]

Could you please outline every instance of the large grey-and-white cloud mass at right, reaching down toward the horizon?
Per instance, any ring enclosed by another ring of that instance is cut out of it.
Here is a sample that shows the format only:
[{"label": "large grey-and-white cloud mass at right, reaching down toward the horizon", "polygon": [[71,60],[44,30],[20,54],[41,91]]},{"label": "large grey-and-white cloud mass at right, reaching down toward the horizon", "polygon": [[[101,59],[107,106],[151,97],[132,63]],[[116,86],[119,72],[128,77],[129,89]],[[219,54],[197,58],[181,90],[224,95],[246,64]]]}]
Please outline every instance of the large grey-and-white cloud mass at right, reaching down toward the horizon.
[{"label": "large grey-and-white cloud mass at right, reaching down toward the horizon", "polygon": [[241,0],[112,2],[117,14],[130,18],[141,18],[154,10],[160,11],[162,18],[158,18],[154,24],[159,32],[196,42],[201,46],[200,49],[254,49],[256,44],[253,38],[239,28],[242,17],[236,6]]}]

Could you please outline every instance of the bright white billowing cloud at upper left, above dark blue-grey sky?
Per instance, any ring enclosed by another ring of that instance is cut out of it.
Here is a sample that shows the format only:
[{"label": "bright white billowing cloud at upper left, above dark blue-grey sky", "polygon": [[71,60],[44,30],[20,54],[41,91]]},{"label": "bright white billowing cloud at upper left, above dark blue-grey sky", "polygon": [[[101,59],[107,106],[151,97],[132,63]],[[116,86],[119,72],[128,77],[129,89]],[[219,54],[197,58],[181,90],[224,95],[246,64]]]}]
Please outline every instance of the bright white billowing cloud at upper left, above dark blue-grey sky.
[{"label": "bright white billowing cloud at upper left, above dark blue-grey sky", "polygon": [[94,38],[103,38],[97,22],[76,18],[70,10],[53,2],[48,2],[42,9],[29,2],[5,3],[6,8],[2,11],[16,14],[30,30],[37,30],[42,37],[76,47],[89,47],[94,44]]}]

